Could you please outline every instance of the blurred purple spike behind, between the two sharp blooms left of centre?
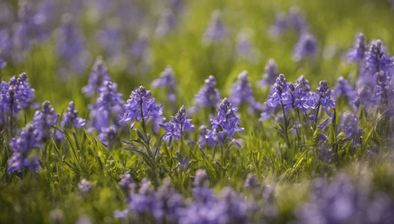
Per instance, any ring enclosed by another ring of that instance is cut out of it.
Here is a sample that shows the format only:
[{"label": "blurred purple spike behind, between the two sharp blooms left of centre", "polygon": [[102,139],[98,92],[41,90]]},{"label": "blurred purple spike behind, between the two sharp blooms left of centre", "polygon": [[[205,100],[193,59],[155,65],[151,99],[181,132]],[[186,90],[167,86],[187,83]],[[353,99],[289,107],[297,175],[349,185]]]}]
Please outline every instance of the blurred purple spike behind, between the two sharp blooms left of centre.
[{"label": "blurred purple spike behind, between the two sharp blooms left of centre", "polygon": [[[154,87],[154,88],[163,87],[163,86],[167,86],[168,101],[173,105],[173,107],[175,107],[176,82],[175,82],[174,71],[172,70],[172,67],[170,65],[165,67],[164,71],[162,73],[160,73],[160,77],[153,80],[153,82],[152,82],[152,87]],[[175,108],[174,108],[174,110],[175,110]]]}]

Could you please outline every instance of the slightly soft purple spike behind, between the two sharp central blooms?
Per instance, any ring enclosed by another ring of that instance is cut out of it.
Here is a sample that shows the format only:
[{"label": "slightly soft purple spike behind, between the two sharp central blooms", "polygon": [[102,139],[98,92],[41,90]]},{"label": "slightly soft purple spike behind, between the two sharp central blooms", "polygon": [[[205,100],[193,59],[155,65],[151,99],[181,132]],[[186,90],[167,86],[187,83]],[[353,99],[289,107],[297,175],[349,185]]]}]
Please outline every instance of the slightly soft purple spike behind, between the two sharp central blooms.
[{"label": "slightly soft purple spike behind, between the two sharp central blooms", "polygon": [[200,88],[198,93],[195,95],[194,101],[197,109],[204,107],[215,108],[220,103],[221,96],[216,86],[215,77],[209,76],[204,81],[205,85]]}]

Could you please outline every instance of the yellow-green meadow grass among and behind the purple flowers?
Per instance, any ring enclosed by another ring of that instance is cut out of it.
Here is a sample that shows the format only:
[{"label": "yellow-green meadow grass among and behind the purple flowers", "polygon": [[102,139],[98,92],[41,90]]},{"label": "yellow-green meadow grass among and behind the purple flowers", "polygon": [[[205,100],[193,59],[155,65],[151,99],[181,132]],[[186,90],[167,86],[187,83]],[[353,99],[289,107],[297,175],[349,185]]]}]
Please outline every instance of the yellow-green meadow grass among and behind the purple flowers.
[{"label": "yellow-green meadow grass among and behind the purple flowers", "polygon": [[[153,7],[154,3],[145,4],[146,7]],[[293,46],[297,41],[295,33],[279,38],[272,38],[268,34],[275,14],[288,11],[293,4],[305,13],[311,31],[318,38],[319,54],[313,60],[299,63],[292,60]],[[201,36],[215,9],[223,12],[230,40],[204,47]],[[129,75],[120,68],[109,66],[109,73],[125,99],[135,86],[150,86],[151,81],[166,65],[171,65],[176,74],[178,107],[193,106],[194,94],[211,74],[217,78],[222,96],[228,96],[231,84],[242,70],[248,70],[255,96],[260,102],[264,102],[268,91],[259,89],[255,81],[261,79],[264,65],[271,57],[276,59],[279,71],[289,81],[294,81],[303,74],[310,81],[312,89],[323,79],[331,86],[338,76],[354,80],[352,77],[358,74],[357,66],[346,63],[343,56],[358,31],[365,33],[368,41],[373,38],[382,39],[387,50],[394,52],[394,12],[385,0],[198,0],[187,1],[185,10],[184,18],[174,33],[163,40],[151,40],[153,59],[147,73]],[[89,44],[93,56],[101,54],[90,32],[95,26],[89,19],[84,21],[87,39],[92,40]],[[234,52],[236,34],[243,28],[252,30],[251,41],[261,51],[257,63],[239,58]],[[89,71],[80,77],[59,79],[56,70],[62,61],[57,60],[53,43],[54,40],[51,40],[48,44],[35,46],[22,64],[9,64],[0,70],[0,77],[8,80],[12,75],[27,72],[30,83],[36,90],[36,102],[49,100],[60,113],[73,100],[80,115],[87,118],[89,111],[86,106],[93,101],[83,96],[81,88],[87,83]],[[328,48],[335,50],[333,56],[325,56]],[[173,115],[163,89],[152,89],[152,95],[157,98],[157,102],[164,103],[166,117]],[[345,103],[337,105],[338,114],[346,110],[349,108]],[[209,124],[208,113],[201,111],[192,117],[196,127]],[[24,112],[18,126],[22,127],[32,117],[33,109]],[[224,186],[243,192],[245,177],[248,173],[255,173],[263,184],[274,183],[276,186],[279,215],[274,221],[278,223],[294,219],[296,204],[307,196],[306,186],[312,178],[318,176],[330,179],[341,171],[351,174],[354,179],[370,175],[376,191],[383,191],[394,197],[392,147],[390,144],[382,144],[386,141],[376,129],[382,123],[375,121],[376,118],[361,120],[362,146],[352,149],[349,144],[340,144],[338,156],[332,164],[317,158],[314,133],[305,131],[307,142],[302,149],[288,148],[283,137],[274,129],[277,124],[273,120],[257,122],[259,114],[248,114],[246,107],[240,108],[240,118],[245,133],[237,135],[237,138],[243,141],[243,146],[230,148],[227,163],[219,166],[216,163],[216,160],[220,161],[218,152],[212,158],[213,150],[205,149],[205,157],[194,144],[186,147],[187,155],[192,161],[186,172],[175,169],[176,161],[173,157],[180,148],[180,142],[161,148],[163,156],[160,166],[153,171],[141,156],[122,149],[125,145],[120,141],[113,147],[106,148],[95,138],[96,134],[90,135],[84,130],[67,130],[68,137],[65,141],[49,140],[43,149],[36,150],[41,161],[38,173],[24,171],[9,175],[6,172],[6,161],[11,153],[11,148],[7,146],[10,139],[4,135],[0,138],[0,223],[50,223],[54,209],[62,211],[66,223],[74,223],[83,214],[97,223],[120,223],[113,217],[113,211],[126,206],[126,195],[118,185],[120,175],[124,172],[134,174],[135,182],[148,177],[156,186],[164,177],[169,176],[175,188],[187,197],[191,196],[193,176],[198,168],[207,171],[211,186],[218,192]],[[137,125],[137,128],[140,129],[140,126]],[[325,133],[330,135],[329,143],[337,143],[336,139],[339,137],[335,136],[340,133],[332,133],[330,127]],[[197,134],[198,131],[190,134],[190,137],[195,139]],[[129,135],[128,131],[123,131],[118,138],[129,140],[129,136],[136,138],[135,132]],[[157,143],[157,137],[154,141]],[[296,135],[291,134],[291,142],[296,142]],[[378,155],[368,156],[368,150],[375,145],[379,147]],[[93,185],[92,191],[85,196],[77,188],[82,178]],[[248,192],[243,193],[246,197],[252,196]]]}]

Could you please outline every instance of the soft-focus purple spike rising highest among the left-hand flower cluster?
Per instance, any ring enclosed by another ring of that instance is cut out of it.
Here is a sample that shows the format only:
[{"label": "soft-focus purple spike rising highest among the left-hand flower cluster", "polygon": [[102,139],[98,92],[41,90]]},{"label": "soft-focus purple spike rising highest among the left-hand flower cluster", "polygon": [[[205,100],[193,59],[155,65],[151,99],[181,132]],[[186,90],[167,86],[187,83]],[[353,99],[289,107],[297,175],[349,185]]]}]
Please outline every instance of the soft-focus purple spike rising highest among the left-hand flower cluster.
[{"label": "soft-focus purple spike rising highest among the left-hand flower cluster", "polygon": [[105,81],[109,82],[111,78],[108,75],[107,66],[105,66],[104,61],[99,56],[92,67],[88,84],[82,88],[82,92],[87,97],[94,96]]}]

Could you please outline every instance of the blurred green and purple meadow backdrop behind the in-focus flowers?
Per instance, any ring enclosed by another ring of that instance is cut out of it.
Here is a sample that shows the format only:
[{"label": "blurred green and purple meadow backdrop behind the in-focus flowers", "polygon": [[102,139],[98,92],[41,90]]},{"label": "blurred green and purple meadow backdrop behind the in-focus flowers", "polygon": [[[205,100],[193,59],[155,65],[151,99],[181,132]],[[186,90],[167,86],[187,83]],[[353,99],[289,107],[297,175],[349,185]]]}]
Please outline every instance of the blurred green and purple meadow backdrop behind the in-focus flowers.
[{"label": "blurred green and purple meadow backdrop behind the in-focus flowers", "polygon": [[[312,88],[322,79],[333,85],[355,75],[344,55],[357,32],[382,39],[392,52],[393,19],[389,0],[1,0],[0,77],[26,72],[36,102],[60,110],[74,100],[87,115],[81,88],[102,56],[124,98],[171,65],[179,104],[191,106],[208,75],[228,96],[242,70],[263,102],[267,91],[255,81],[269,58],[289,81],[303,74]],[[316,49],[297,59],[305,30]],[[160,91],[153,94],[165,103]]]}]

